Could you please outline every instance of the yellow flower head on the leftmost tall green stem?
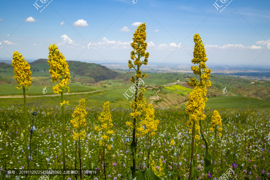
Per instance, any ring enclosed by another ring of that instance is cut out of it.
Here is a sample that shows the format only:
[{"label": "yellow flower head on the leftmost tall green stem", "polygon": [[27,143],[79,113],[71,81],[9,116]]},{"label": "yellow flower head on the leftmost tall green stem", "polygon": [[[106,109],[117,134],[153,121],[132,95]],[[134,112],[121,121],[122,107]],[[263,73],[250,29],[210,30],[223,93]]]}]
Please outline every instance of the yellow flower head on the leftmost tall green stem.
[{"label": "yellow flower head on the leftmost tall green stem", "polygon": [[30,87],[32,82],[30,64],[28,64],[24,57],[17,51],[13,52],[12,58],[13,79],[16,79],[18,90],[23,86]]}]

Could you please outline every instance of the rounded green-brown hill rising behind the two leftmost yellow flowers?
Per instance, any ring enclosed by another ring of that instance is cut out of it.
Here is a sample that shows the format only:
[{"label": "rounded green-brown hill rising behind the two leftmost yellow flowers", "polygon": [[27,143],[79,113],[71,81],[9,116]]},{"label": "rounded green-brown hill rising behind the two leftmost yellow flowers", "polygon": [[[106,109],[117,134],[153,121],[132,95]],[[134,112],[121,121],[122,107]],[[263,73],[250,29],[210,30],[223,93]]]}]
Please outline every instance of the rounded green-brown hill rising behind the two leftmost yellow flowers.
[{"label": "rounded green-brown hill rising behind the two leftmost yellow flowers", "polygon": [[[49,70],[48,59],[38,59],[34,62],[30,62],[31,70]],[[118,73],[95,63],[87,63],[80,61],[67,61],[69,70],[79,76],[90,77],[91,82],[98,82],[107,79],[115,78]],[[9,64],[4,62],[0,63],[0,68],[13,68]]]}]

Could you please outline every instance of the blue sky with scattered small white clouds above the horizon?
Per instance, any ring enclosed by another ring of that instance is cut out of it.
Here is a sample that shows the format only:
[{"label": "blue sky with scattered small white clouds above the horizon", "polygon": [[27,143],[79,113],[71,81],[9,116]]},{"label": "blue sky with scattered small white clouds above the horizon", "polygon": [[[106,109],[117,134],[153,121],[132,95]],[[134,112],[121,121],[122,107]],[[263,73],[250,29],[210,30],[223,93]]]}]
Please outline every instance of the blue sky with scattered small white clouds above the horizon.
[{"label": "blue sky with scattered small white clouds above the horizon", "polygon": [[0,1],[0,59],[13,51],[29,61],[47,58],[56,44],[70,61],[127,64],[133,33],[145,22],[149,64],[190,64],[198,33],[209,64],[270,65],[270,1],[232,0],[220,12],[229,0],[52,0],[41,11],[48,3]]}]

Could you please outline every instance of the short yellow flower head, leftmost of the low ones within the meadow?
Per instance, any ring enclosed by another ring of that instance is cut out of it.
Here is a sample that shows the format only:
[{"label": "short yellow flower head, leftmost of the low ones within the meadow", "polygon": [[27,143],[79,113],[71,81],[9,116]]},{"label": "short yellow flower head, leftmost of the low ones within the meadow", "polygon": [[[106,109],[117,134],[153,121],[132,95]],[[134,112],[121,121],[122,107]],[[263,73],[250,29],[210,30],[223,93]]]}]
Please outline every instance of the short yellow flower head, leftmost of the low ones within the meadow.
[{"label": "short yellow flower head, leftmost of the low ones within the meadow", "polygon": [[73,133],[73,140],[79,140],[85,138],[85,130],[82,129],[86,126],[85,116],[87,115],[85,110],[85,99],[81,99],[79,102],[79,106],[76,106],[73,114],[72,120],[70,123],[73,124],[74,128],[77,130]]}]

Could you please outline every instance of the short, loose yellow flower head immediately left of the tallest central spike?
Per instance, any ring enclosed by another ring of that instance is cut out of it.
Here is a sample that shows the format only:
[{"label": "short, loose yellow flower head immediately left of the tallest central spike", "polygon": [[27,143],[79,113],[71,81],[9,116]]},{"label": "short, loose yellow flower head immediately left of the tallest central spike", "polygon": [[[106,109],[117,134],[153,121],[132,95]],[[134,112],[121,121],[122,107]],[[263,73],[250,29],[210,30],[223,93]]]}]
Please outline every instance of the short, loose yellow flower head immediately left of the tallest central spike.
[{"label": "short, loose yellow flower head immediately left of the tallest central spike", "polygon": [[102,139],[99,140],[99,145],[100,146],[105,146],[105,142],[109,139],[110,134],[113,134],[113,131],[111,128],[113,127],[113,120],[112,120],[112,115],[110,112],[110,102],[107,101],[104,103],[104,110],[101,112],[100,116],[98,117],[98,120],[101,122],[101,126],[96,126],[95,130],[96,131],[102,131],[104,134],[101,136]]}]

